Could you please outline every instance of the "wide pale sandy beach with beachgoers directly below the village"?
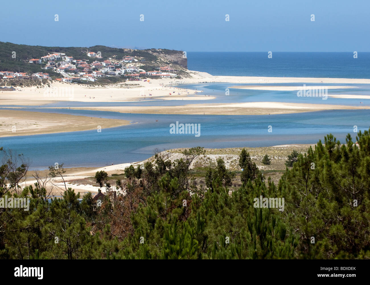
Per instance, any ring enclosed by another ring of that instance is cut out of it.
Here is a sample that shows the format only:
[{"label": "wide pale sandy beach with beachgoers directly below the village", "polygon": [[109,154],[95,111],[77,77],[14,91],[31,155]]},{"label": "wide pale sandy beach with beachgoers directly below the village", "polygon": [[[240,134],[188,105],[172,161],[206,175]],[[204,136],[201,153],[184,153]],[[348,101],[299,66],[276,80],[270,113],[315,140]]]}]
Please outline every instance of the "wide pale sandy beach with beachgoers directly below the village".
[{"label": "wide pale sandy beach with beachgoers directly below the village", "polygon": [[131,81],[104,87],[54,82],[51,87],[46,88],[28,87],[11,92],[1,92],[0,105],[38,106],[58,101],[140,102],[153,98],[163,100],[209,100],[214,98],[208,94],[205,96],[201,90],[162,86],[162,84],[167,84],[168,80],[152,81],[154,83]]}]

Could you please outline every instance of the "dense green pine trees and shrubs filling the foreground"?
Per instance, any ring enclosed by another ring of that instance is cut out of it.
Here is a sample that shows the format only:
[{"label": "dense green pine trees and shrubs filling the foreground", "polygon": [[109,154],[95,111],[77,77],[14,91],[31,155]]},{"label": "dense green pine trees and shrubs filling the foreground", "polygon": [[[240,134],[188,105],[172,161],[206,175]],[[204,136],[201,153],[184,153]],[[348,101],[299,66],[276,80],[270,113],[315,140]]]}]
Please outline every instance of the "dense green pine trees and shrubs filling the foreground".
[{"label": "dense green pine trees and shrubs filling the foreground", "polygon": [[[27,196],[30,208],[0,208],[0,258],[369,259],[370,129],[356,140],[359,148],[350,135],[340,145],[330,134],[314,150],[292,154],[277,185],[242,149],[243,184],[232,195],[234,174],[222,159],[202,169],[205,188],[195,185],[190,166],[203,148],[175,161],[157,153],[143,169],[126,168],[115,187],[97,172],[108,192],[101,206],[90,193],[80,203],[71,188],[49,202],[40,179],[20,189],[27,165],[4,152],[0,197]],[[50,170],[63,175],[63,165]],[[260,196],[284,198],[284,211],[255,208]]]}]

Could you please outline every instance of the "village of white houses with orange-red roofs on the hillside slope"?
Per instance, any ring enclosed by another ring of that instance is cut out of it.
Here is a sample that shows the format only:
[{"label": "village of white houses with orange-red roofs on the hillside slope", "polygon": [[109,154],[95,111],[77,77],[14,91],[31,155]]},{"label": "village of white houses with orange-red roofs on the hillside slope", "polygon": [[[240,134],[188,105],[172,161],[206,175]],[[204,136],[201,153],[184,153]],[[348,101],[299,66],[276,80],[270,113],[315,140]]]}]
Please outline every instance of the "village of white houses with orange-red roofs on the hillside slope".
[{"label": "village of white houses with orange-red roofs on the hillside slope", "polygon": [[[78,82],[95,82],[102,77],[124,76],[126,80],[145,80],[150,78],[172,78],[176,76],[175,70],[169,66],[155,68],[154,71],[145,71],[137,67],[140,62],[145,62],[145,59],[135,59],[133,56],[124,56],[122,60],[102,60],[100,52],[87,52],[87,57],[91,60],[74,59],[72,56],[67,56],[64,53],[52,53],[43,56],[40,59],[30,59],[30,64],[42,64],[45,72],[37,72],[29,74],[26,72],[10,72],[1,71],[2,79],[48,79],[53,80],[48,71],[53,71],[60,74],[60,78],[54,78],[56,81],[67,83]],[[100,60],[98,60],[100,59]],[[89,63],[91,62],[92,63]],[[121,78],[124,78],[121,77]],[[148,80],[149,81],[149,80]]]}]

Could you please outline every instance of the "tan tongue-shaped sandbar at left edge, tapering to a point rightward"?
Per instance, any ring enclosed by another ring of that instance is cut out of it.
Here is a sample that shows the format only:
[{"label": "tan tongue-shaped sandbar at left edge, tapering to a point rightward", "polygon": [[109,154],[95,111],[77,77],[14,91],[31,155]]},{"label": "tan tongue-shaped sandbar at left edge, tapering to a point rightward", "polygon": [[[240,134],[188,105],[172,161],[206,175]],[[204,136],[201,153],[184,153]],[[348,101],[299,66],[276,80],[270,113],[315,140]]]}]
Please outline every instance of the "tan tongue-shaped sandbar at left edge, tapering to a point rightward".
[{"label": "tan tongue-shaped sandbar at left edge, tapering to a point rightward", "polygon": [[98,126],[104,129],[128,124],[129,121],[118,119],[19,110],[0,111],[0,137],[98,130]]}]

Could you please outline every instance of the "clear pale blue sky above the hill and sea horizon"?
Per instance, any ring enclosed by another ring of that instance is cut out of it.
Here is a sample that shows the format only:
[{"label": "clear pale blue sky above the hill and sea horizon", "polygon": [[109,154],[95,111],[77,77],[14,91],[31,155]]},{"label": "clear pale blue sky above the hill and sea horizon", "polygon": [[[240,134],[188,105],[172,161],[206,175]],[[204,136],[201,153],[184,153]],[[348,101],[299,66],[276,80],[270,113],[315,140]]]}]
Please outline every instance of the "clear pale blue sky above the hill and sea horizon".
[{"label": "clear pale blue sky above the hill and sea horizon", "polygon": [[370,52],[369,0],[19,0],[0,6],[0,41],[17,44]]}]

